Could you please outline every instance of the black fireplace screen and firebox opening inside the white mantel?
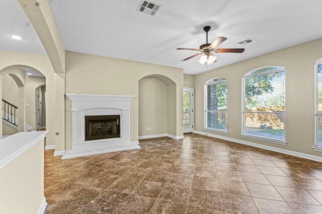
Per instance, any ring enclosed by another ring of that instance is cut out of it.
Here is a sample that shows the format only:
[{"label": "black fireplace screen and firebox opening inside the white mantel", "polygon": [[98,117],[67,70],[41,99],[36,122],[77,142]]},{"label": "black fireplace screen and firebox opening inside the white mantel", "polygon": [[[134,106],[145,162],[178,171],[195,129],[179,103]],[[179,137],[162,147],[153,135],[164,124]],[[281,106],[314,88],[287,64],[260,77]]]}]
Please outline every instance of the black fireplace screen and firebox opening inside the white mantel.
[{"label": "black fireplace screen and firebox opening inside the white mantel", "polygon": [[85,116],[85,141],[120,138],[120,115]]}]

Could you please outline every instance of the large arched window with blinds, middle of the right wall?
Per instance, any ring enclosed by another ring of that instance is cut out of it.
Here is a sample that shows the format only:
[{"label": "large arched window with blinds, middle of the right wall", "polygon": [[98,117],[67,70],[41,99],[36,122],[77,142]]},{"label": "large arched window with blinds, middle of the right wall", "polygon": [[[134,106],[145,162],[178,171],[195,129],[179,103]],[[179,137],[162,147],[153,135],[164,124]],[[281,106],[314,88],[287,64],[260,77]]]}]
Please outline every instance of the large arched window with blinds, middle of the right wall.
[{"label": "large arched window with blinds, middle of the right wall", "polygon": [[243,76],[242,136],[285,144],[285,73],[264,67]]}]

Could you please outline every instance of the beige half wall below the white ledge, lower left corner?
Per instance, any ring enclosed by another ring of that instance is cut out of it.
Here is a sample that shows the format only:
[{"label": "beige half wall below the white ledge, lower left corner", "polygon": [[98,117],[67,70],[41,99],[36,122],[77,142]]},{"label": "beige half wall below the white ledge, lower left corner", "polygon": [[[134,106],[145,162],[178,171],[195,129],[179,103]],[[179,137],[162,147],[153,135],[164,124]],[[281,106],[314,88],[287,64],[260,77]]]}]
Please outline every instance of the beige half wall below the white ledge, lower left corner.
[{"label": "beige half wall below the white ledge, lower left corner", "polygon": [[37,213],[44,197],[44,140],[0,169],[1,213]]}]

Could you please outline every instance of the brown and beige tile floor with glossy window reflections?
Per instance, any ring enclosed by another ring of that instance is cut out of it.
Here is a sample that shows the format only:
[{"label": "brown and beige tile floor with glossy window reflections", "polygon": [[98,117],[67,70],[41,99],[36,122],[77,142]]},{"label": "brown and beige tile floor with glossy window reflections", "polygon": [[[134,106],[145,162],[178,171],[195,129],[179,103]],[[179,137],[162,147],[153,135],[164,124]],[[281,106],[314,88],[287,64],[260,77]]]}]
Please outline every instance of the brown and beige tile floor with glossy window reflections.
[{"label": "brown and beige tile floor with glossy window reflections", "polygon": [[321,213],[322,163],[201,135],[61,160],[45,151],[46,213]]}]

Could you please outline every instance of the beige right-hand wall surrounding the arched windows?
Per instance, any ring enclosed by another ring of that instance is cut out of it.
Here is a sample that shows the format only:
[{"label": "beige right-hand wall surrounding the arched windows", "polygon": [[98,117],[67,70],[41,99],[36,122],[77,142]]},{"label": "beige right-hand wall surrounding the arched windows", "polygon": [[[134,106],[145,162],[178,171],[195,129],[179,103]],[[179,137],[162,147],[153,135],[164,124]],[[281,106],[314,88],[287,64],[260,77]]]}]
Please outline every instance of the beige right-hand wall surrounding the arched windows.
[{"label": "beige right-hand wall surrounding the arched windows", "polygon": [[[322,47],[322,39],[196,75],[195,130],[223,135],[203,129],[203,85],[211,78],[222,77],[227,79],[227,123],[228,129],[231,129],[231,133],[223,136],[322,156],[321,153],[312,150],[314,146],[314,62],[322,57],[318,47]],[[241,76],[264,66],[282,66],[286,69],[286,146],[240,137]]]}]

